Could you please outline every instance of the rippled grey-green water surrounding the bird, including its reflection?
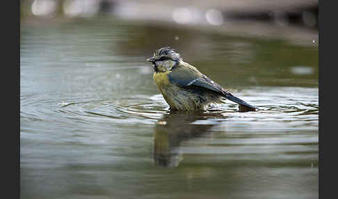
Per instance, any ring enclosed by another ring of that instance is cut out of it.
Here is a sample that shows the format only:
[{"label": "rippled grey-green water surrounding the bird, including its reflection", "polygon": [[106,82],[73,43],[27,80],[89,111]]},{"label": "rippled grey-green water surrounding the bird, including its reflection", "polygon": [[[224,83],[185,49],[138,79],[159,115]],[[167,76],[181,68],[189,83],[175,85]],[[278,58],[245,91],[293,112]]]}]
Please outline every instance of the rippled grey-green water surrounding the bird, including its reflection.
[{"label": "rippled grey-green water surrounding the bird, including its reflection", "polygon": [[[102,17],[20,37],[21,198],[318,198],[316,46]],[[145,61],[168,45],[261,111],[170,113]]]}]

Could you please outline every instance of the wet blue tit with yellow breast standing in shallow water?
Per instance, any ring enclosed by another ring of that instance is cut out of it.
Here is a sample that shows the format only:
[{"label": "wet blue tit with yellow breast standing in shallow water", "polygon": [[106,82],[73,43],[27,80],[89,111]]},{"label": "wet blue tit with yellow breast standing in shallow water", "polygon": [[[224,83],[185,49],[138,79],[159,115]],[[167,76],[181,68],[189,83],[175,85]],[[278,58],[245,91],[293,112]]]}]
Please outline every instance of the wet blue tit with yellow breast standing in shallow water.
[{"label": "wet blue tit with yellow breast standing in shallow water", "polygon": [[257,109],[184,62],[170,47],[156,50],[147,61],[154,65],[154,82],[170,111],[204,111],[211,103],[224,103],[225,99],[239,104],[239,111]]}]

